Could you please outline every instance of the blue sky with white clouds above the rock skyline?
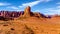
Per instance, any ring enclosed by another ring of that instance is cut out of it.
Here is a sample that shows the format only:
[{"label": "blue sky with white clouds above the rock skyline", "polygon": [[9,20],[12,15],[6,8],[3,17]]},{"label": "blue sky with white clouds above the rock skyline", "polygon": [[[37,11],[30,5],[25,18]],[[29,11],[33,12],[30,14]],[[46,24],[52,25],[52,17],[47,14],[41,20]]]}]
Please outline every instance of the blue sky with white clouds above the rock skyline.
[{"label": "blue sky with white clouds above the rock skyline", "polygon": [[60,15],[60,0],[0,0],[0,10],[23,11],[26,6],[32,12]]}]

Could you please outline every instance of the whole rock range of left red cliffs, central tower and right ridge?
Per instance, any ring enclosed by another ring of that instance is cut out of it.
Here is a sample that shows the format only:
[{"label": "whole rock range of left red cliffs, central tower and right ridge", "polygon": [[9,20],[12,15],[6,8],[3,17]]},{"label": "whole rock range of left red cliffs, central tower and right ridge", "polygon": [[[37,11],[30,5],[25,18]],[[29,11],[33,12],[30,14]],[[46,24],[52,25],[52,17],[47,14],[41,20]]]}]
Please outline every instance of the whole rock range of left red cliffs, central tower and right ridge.
[{"label": "whole rock range of left red cliffs, central tower and right ridge", "polygon": [[20,17],[42,17],[42,18],[51,18],[51,16],[46,16],[38,12],[32,12],[31,7],[27,6],[24,11],[0,11],[0,17],[4,18],[20,18]]}]

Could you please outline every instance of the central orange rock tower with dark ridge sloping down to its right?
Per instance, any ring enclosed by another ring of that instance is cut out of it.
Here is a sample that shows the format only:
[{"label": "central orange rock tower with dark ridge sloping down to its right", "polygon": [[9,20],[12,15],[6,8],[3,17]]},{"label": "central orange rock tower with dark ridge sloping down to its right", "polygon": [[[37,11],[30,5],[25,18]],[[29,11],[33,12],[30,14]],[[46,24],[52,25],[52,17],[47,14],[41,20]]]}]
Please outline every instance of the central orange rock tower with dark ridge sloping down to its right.
[{"label": "central orange rock tower with dark ridge sloping down to its right", "polygon": [[24,10],[23,17],[42,17],[42,18],[51,18],[51,16],[45,16],[44,14],[38,13],[38,12],[31,12],[31,7],[27,6]]}]

